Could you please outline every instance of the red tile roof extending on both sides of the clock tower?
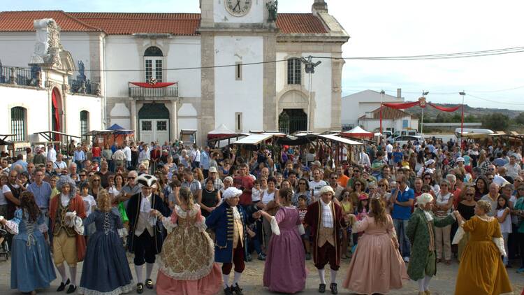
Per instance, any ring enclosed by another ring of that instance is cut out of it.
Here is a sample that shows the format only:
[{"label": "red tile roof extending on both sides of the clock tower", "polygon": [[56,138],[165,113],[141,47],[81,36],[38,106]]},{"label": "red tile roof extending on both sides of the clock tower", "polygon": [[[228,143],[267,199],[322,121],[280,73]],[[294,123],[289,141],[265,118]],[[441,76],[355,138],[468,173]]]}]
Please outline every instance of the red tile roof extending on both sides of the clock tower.
[{"label": "red tile roof extending on both sides of the clock tower", "polygon": [[[198,35],[200,13],[65,13],[48,11],[0,12],[0,31],[34,31],[33,20],[52,18],[61,31],[104,31],[110,35],[166,33]],[[321,20],[311,13],[279,13],[282,34],[326,34]]]}]

